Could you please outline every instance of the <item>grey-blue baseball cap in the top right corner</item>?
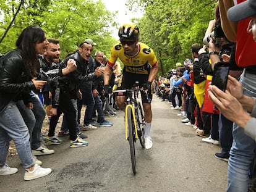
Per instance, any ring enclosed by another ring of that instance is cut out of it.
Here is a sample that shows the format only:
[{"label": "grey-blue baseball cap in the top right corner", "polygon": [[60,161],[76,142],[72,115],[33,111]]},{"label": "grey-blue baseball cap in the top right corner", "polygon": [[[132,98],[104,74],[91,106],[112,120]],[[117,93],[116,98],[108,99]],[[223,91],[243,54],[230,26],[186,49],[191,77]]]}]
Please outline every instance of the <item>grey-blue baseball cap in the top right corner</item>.
[{"label": "grey-blue baseball cap in the top right corner", "polygon": [[228,19],[237,22],[256,14],[256,1],[247,0],[228,9]]}]

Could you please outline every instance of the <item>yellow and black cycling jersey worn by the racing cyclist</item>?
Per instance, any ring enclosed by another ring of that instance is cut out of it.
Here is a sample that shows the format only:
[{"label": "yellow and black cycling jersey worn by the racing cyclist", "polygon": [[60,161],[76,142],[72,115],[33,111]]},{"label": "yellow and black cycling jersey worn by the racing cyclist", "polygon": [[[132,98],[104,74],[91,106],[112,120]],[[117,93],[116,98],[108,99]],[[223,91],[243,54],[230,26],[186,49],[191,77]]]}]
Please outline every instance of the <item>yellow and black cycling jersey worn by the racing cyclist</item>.
[{"label": "yellow and black cycling jersey worn by the racing cyclist", "polygon": [[148,67],[150,67],[148,64],[152,67],[156,67],[158,61],[153,49],[148,47],[147,44],[139,42],[138,46],[139,50],[137,54],[131,57],[124,53],[124,48],[122,48],[121,43],[114,44],[108,59],[109,67],[113,67],[117,58],[119,58],[124,64],[124,71],[137,74],[148,74]]}]

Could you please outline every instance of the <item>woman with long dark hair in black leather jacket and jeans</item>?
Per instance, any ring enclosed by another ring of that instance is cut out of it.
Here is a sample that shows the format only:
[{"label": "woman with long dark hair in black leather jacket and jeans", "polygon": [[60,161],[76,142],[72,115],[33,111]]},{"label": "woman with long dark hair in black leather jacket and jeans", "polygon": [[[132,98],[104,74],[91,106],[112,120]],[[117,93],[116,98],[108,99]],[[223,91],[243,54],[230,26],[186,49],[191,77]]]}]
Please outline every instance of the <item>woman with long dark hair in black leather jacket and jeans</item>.
[{"label": "woman with long dark hair in black leather jacket and jeans", "polygon": [[[6,164],[10,140],[14,140],[25,168],[24,180],[33,180],[51,173],[51,169],[35,165],[28,133],[28,125],[35,125],[35,117],[30,110],[33,109],[30,91],[39,90],[46,83],[36,80],[36,76],[39,71],[38,54],[43,54],[47,44],[44,30],[40,27],[27,27],[16,41],[17,48],[0,58],[0,175],[11,175],[18,171]],[[17,102],[21,100],[28,108],[22,112],[17,107]]]}]

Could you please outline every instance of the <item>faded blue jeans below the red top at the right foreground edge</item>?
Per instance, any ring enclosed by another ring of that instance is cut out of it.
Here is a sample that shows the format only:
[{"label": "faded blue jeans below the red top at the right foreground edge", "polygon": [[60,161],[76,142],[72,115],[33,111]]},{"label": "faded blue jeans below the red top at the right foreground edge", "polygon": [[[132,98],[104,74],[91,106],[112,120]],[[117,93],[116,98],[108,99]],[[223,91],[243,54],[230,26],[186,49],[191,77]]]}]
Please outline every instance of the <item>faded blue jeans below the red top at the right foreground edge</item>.
[{"label": "faded blue jeans below the red top at the right foreground edge", "polygon": [[[256,75],[244,72],[241,76],[244,94],[256,97]],[[255,125],[256,127],[256,125]],[[255,140],[245,135],[244,129],[233,125],[233,145],[228,163],[228,192],[247,191],[250,165],[254,161]]]}]

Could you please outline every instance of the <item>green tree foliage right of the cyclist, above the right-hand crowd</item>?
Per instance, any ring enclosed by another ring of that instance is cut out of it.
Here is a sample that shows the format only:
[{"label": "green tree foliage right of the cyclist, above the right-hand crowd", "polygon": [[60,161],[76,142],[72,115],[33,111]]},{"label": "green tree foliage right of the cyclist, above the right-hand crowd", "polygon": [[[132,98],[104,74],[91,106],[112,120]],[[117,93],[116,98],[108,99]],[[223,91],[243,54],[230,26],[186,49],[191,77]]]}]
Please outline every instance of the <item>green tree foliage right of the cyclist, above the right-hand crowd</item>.
[{"label": "green tree foliage right of the cyclist, above the right-hand crowd", "polygon": [[201,43],[208,22],[215,19],[216,1],[137,1],[145,6],[139,20],[140,40],[153,48],[160,62],[159,75],[174,69],[176,62],[191,58],[190,47]]}]

